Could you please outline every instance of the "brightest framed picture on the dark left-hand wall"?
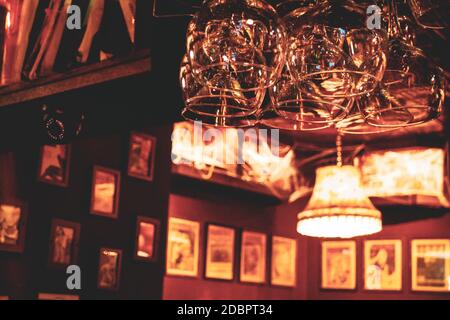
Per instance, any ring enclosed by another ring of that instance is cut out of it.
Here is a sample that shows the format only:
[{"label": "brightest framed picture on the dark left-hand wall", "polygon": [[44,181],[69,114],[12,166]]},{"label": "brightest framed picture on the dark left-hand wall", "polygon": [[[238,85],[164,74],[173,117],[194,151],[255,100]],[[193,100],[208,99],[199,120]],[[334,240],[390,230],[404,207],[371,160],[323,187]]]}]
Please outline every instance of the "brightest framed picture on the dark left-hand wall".
[{"label": "brightest framed picture on the dark left-hand wall", "polygon": [[92,178],[91,213],[117,218],[119,194],[120,172],[95,166]]}]

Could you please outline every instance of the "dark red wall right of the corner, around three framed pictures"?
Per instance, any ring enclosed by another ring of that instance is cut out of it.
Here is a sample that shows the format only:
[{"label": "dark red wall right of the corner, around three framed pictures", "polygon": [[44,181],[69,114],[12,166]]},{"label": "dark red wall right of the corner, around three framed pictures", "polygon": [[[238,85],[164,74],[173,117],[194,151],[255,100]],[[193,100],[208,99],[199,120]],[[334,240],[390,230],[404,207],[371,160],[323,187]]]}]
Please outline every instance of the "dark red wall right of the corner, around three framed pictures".
[{"label": "dark red wall right of the corner, around three framed pictures", "polygon": [[[292,205],[278,207],[277,223],[286,227],[295,228],[297,213],[303,209],[306,200],[307,199],[303,199]],[[383,230],[376,235],[356,239],[356,290],[343,291],[321,289],[321,240],[300,237],[300,243],[302,243],[302,246],[307,250],[307,253],[303,254],[303,256],[307,257],[306,270],[300,273],[301,282],[307,286],[307,299],[450,299],[450,293],[419,293],[411,291],[409,244],[412,239],[450,238],[450,212],[446,213],[439,210],[414,207],[385,208],[382,209],[382,211],[383,220],[388,223],[384,224]],[[365,239],[402,240],[402,291],[374,292],[364,290],[363,241]]]}]

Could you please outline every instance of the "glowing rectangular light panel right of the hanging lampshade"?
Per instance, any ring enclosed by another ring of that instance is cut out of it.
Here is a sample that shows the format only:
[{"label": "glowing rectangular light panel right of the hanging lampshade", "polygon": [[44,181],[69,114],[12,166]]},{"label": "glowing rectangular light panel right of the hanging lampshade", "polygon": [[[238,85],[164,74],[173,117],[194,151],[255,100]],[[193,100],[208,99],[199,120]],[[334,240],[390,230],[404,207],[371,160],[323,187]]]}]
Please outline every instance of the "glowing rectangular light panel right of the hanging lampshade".
[{"label": "glowing rectangular light panel right of the hanging lampshade", "polygon": [[361,159],[362,182],[369,197],[433,196],[448,206],[444,162],[436,148],[370,152]]}]

